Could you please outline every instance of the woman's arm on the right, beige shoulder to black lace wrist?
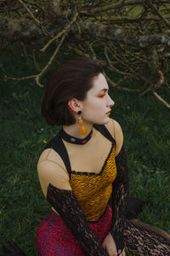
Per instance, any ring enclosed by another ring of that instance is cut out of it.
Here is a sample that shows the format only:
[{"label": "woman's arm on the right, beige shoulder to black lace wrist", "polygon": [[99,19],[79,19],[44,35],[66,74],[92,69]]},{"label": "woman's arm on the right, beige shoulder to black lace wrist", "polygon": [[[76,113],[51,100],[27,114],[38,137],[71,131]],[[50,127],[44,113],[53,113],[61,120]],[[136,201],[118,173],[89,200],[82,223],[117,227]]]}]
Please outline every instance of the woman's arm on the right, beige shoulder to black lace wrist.
[{"label": "woman's arm on the right, beige shoulder to black lace wrist", "polygon": [[123,225],[127,211],[128,198],[128,169],[127,158],[123,145],[123,135],[121,126],[111,119],[110,127],[108,127],[111,135],[116,140],[116,169],[117,175],[113,183],[111,195],[111,205],[113,211],[111,235],[116,242],[117,252],[122,252],[124,247],[123,241]]}]

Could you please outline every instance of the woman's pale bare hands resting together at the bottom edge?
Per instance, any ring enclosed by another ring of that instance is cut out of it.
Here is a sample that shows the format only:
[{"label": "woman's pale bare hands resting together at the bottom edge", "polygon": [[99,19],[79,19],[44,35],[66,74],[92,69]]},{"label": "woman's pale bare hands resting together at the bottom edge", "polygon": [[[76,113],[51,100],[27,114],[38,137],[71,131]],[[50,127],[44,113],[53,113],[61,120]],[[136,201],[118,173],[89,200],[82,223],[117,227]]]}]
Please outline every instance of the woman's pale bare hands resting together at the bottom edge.
[{"label": "woman's pale bare hands resting together at the bottom edge", "polygon": [[[104,239],[102,245],[105,248],[105,250],[107,251],[107,253],[109,254],[109,256],[117,256],[116,244],[115,244],[113,237],[111,236],[111,233],[109,233],[107,236],[105,236],[105,239]],[[126,256],[124,249],[123,249],[122,253],[119,254],[119,256]]]}]

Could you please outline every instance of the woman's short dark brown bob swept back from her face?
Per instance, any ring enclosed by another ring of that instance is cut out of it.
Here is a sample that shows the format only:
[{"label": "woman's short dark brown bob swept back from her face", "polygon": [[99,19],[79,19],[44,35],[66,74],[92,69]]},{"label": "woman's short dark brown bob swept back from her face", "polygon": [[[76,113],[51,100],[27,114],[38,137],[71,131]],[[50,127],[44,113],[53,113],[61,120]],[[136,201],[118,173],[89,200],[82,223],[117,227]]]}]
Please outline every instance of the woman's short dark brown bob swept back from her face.
[{"label": "woman's short dark brown bob swept back from her face", "polygon": [[93,79],[102,72],[99,64],[85,57],[65,61],[55,68],[42,99],[42,116],[48,125],[75,124],[68,102],[71,98],[83,101],[93,86]]}]

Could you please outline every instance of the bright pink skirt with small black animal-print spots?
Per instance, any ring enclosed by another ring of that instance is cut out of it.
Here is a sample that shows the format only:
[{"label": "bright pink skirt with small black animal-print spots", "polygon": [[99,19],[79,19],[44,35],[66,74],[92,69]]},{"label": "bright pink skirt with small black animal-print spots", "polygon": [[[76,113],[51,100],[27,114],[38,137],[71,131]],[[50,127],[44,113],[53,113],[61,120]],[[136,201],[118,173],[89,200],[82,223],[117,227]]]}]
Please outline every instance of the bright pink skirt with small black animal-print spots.
[{"label": "bright pink skirt with small black animal-print spots", "polygon": [[[111,229],[112,210],[108,206],[105,214],[97,223],[88,223],[101,243]],[[78,241],[72,236],[58,214],[53,210],[42,219],[37,229],[37,253],[38,255],[69,255],[84,256]]]}]

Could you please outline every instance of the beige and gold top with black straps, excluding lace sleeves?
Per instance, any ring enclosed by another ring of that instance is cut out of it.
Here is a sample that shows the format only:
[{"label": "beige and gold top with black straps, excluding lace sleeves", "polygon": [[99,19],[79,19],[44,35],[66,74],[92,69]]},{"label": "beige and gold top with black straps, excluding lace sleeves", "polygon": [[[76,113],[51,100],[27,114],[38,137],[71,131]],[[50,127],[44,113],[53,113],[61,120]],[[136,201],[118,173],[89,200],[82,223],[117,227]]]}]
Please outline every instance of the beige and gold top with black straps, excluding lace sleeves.
[{"label": "beige and gold top with black straps, excluding lace sleeves", "polygon": [[57,135],[44,148],[37,165],[43,194],[47,196],[49,183],[72,190],[91,222],[105,213],[117,175],[115,157],[122,147],[122,130],[116,121],[111,119],[106,128],[115,140],[105,137],[95,126],[93,136],[84,144],[70,143]]}]

